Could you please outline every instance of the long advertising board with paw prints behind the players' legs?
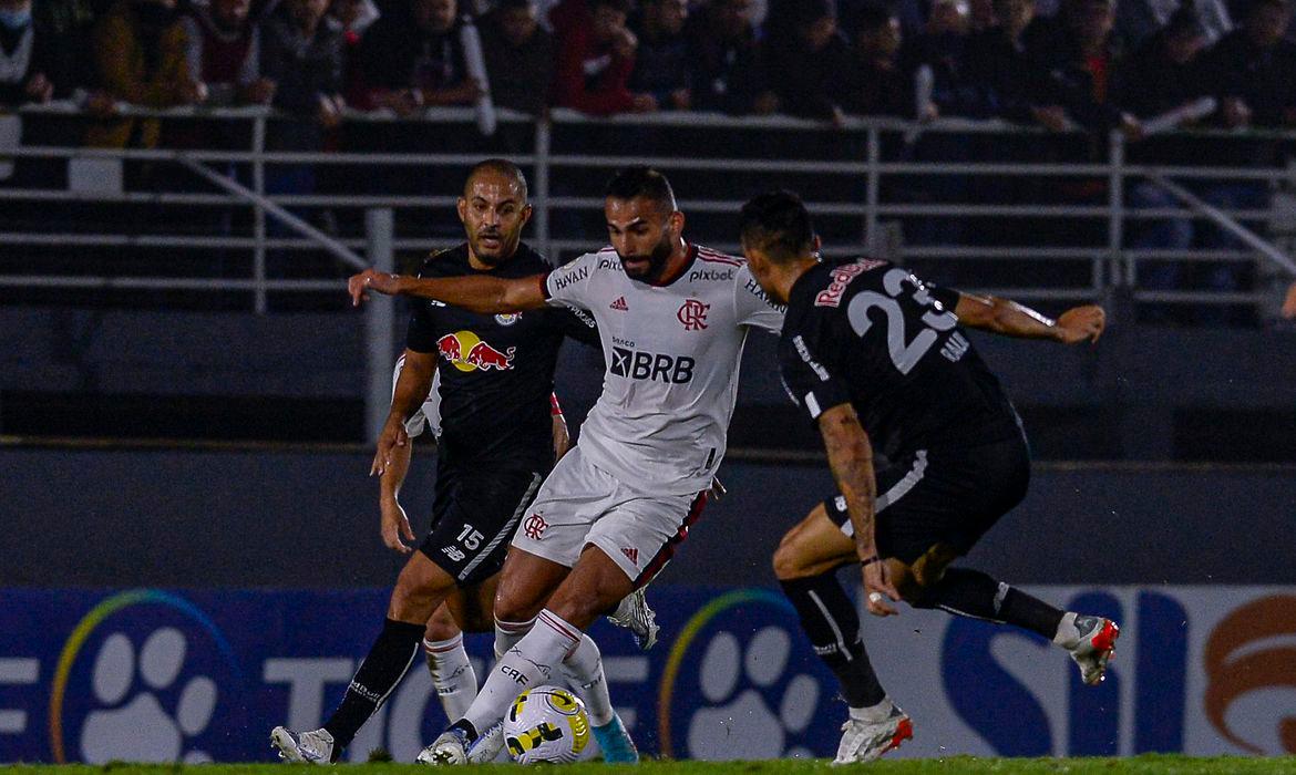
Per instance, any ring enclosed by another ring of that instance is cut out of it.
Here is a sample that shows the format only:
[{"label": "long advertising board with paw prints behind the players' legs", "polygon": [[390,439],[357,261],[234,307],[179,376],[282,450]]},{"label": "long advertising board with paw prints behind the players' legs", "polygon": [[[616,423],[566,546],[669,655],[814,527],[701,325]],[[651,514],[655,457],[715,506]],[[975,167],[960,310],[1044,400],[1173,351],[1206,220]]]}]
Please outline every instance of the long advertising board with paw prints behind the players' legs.
[{"label": "long advertising board with paw prints behind the players' legs", "polygon": [[[1081,684],[1065,652],[1012,627],[866,617],[883,684],[914,718],[889,756],[1296,753],[1296,588],[1030,591],[1121,622],[1108,679]],[[833,753],[845,706],[778,591],[662,584],[649,600],[652,652],[591,630],[644,753]],[[273,726],[316,728],[340,701],[386,603],[384,590],[0,590],[0,762],[272,759]],[[481,679],[490,636],[468,645]],[[416,665],[346,759],[412,761],[445,723]]]}]

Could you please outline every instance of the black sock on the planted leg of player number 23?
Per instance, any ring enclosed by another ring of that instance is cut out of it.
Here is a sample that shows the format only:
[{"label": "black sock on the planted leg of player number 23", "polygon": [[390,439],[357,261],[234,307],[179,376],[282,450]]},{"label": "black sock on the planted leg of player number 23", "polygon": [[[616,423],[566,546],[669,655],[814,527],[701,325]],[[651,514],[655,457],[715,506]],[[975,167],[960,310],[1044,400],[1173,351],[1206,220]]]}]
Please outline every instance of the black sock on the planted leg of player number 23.
[{"label": "black sock on the planted leg of player number 23", "polygon": [[859,635],[859,614],[833,572],[780,581],[783,594],[801,618],[819,658],[841,683],[841,696],[851,708],[872,708],[886,699]]}]

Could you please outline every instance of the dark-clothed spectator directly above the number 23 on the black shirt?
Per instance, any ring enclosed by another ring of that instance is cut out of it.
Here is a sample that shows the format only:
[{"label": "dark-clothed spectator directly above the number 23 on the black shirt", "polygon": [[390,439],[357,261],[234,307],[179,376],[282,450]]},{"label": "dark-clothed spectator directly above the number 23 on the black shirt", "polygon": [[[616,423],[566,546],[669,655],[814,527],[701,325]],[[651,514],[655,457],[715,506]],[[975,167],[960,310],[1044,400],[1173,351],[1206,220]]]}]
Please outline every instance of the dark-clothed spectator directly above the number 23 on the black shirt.
[{"label": "dark-clothed spectator directly above the number 23 on the black shirt", "polygon": [[845,80],[842,108],[859,115],[914,115],[914,79],[901,67],[899,18],[874,5],[859,12],[855,66]]}]

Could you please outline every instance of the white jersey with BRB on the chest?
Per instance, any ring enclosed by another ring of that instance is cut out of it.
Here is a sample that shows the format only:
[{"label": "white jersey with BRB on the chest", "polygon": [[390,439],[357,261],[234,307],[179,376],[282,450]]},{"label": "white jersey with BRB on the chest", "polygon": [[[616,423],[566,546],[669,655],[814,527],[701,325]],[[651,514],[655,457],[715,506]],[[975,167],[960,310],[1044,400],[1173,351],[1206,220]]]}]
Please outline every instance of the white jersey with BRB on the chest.
[{"label": "white jersey with BRB on the chest", "polygon": [[546,280],[551,303],[599,323],[607,372],[581,448],[622,483],[667,495],[710,485],[724,456],[746,332],[783,327],[783,308],[746,262],[701,246],[689,254],[684,273],[665,286],[627,277],[610,248]]}]

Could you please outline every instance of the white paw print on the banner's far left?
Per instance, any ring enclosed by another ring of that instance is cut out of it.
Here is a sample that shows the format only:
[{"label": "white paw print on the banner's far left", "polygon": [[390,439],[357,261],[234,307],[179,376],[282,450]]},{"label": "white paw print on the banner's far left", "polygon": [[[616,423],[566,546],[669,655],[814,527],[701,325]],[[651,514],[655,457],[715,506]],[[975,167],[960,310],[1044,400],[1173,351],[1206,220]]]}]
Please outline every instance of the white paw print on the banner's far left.
[{"label": "white paw print on the banner's far left", "polygon": [[174,627],[135,644],[121,632],[104,640],[95,658],[92,687],[100,710],[91,710],[82,727],[82,757],[98,765],[126,762],[210,762],[211,757],[191,748],[216,709],[216,684],[205,675],[187,678],[179,687],[174,709],[159,700],[180,684],[187,642]]}]

